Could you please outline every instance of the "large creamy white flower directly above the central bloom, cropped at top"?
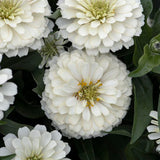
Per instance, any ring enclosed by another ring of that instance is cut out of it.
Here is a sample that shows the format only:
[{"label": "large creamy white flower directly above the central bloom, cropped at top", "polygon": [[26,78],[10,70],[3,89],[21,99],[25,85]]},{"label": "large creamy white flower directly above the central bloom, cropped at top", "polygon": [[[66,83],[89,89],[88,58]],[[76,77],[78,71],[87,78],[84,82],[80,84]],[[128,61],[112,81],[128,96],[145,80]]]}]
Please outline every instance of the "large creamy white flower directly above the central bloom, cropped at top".
[{"label": "large creamy white flower directly above the central bloom, cropped at top", "polygon": [[62,36],[89,55],[128,49],[144,25],[140,0],[59,0],[58,6]]}]

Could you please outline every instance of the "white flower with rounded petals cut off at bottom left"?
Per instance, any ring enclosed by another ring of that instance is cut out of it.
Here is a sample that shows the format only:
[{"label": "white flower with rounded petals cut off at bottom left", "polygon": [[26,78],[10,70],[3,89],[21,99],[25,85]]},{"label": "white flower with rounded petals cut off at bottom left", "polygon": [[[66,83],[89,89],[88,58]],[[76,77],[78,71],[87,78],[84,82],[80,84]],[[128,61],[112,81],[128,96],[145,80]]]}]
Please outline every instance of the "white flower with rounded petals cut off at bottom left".
[{"label": "white flower with rounded petals cut off at bottom left", "polygon": [[61,138],[58,131],[47,132],[42,125],[32,130],[23,127],[18,136],[10,133],[4,137],[5,147],[0,148],[0,156],[15,154],[12,160],[69,160],[65,157],[70,147]]}]

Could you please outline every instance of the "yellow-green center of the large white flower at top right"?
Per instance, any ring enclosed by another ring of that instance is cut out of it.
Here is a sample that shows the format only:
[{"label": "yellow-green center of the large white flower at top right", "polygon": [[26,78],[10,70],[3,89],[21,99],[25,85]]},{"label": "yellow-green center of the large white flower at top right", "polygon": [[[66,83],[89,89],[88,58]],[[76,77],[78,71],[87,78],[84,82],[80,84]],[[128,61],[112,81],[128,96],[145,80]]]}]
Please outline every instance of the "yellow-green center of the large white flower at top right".
[{"label": "yellow-green center of the large white flower at top right", "polygon": [[[86,15],[92,20],[99,20],[104,23],[107,18],[115,15],[115,3],[117,0],[90,0],[83,4]],[[86,7],[87,6],[87,7]]]}]

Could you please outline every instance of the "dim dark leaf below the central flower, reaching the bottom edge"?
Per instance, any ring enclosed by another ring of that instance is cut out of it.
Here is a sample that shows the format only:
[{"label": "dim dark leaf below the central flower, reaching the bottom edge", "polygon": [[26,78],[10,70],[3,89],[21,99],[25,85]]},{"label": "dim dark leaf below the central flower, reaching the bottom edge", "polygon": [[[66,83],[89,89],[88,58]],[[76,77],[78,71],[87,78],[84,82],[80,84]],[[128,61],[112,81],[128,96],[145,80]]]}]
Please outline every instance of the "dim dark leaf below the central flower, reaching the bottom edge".
[{"label": "dim dark leaf below the central flower, reaching the bottom edge", "polygon": [[76,141],[75,144],[81,160],[96,160],[92,140],[80,140],[80,143]]}]

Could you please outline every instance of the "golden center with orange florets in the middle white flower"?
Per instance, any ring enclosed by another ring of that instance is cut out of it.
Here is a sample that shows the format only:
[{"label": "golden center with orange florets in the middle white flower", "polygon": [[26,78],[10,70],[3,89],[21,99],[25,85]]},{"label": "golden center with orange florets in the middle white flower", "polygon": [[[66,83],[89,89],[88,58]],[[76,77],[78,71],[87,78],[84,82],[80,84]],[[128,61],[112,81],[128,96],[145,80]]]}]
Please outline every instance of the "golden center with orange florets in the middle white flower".
[{"label": "golden center with orange florets in the middle white flower", "polygon": [[82,80],[78,85],[81,86],[81,89],[75,94],[75,97],[80,101],[86,100],[87,107],[91,108],[96,102],[101,100],[99,97],[100,93],[98,93],[99,87],[102,86],[100,80],[98,80],[95,84],[91,81],[89,85]]}]

